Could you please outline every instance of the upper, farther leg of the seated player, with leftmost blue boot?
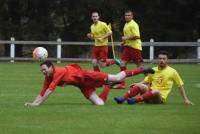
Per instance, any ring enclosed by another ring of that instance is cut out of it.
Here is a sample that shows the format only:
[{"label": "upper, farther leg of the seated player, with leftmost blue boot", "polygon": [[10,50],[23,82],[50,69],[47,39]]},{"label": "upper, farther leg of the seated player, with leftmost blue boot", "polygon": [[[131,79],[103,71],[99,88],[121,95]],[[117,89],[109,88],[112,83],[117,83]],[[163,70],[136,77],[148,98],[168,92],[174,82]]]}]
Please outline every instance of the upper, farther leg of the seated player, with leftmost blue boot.
[{"label": "upper, farther leg of the seated player, with leftmost blue boot", "polygon": [[130,87],[129,91],[124,93],[123,96],[115,97],[114,100],[118,104],[122,104],[125,100],[127,100],[130,97],[134,97],[138,94],[143,94],[148,90],[148,86],[142,83],[137,83]]}]

